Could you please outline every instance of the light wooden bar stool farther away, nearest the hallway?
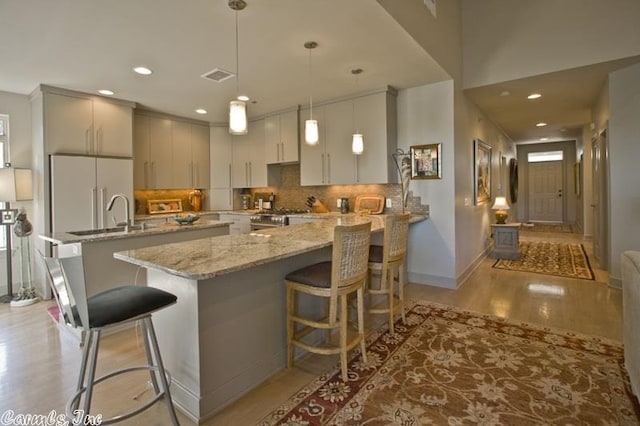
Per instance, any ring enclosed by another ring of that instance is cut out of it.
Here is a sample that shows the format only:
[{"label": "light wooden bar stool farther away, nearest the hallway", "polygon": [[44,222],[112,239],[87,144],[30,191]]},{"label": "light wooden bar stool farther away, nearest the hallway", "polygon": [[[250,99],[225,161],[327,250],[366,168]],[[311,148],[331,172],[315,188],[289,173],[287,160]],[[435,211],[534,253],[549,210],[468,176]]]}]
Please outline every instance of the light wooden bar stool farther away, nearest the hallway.
[{"label": "light wooden bar stool farther away, nearest the hallway", "polygon": [[[389,315],[389,331],[395,334],[393,327],[396,310],[400,310],[402,322],[406,322],[404,315],[404,286],[405,258],[407,254],[407,235],[409,232],[410,213],[400,215],[389,215],[384,220],[383,245],[372,245],[369,247],[369,279],[367,294],[384,296],[386,304],[384,307],[370,307],[368,312],[372,314]],[[394,291],[395,275],[398,274],[398,291]],[[371,277],[379,276],[379,286],[373,287]]]}]

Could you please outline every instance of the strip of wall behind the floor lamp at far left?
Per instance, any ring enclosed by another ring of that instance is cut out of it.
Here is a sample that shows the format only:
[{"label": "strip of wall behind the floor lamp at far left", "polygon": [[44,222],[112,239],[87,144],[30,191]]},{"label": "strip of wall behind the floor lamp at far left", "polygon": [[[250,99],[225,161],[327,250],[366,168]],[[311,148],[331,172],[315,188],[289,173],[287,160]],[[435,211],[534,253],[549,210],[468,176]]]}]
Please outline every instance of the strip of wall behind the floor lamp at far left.
[{"label": "strip of wall behind the floor lamp at far left", "polygon": [[[20,168],[31,168],[31,105],[28,96],[0,91],[0,114],[9,115],[11,165]],[[11,204],[11,208],[20,209],[24,207],[27,211],[27,218],[30,221],[33,221],[32,206],[32,201],[22,201]],[[5,232],[5,228],[0,228],[0,232]],[[11,232],[11,234],[13,234],[13,232]],[[30,242],[33,243],[33,239],[37,238],[37,236],[32,234],[28,238]],[[13,238],[12,267],[14,294],[19,290],[21,283],[18,247],[19,243],[17,238]],[[6,252],[3,250],[0,254],[0,295],[7,293],[5,256]],[[33,254],[31,258],[33,263]]]}]

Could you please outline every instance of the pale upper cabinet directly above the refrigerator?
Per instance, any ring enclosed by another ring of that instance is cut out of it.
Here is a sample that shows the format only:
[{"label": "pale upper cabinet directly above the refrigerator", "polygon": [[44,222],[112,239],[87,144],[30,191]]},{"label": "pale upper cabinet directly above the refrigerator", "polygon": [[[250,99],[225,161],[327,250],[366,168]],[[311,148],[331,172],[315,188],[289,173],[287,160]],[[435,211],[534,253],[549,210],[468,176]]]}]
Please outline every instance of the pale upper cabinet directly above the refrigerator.
[{"label": "pale upper cabinet directly above the refrigerator", "polygon": [[133,103],[43,88],[49,154],[131,157]]}]

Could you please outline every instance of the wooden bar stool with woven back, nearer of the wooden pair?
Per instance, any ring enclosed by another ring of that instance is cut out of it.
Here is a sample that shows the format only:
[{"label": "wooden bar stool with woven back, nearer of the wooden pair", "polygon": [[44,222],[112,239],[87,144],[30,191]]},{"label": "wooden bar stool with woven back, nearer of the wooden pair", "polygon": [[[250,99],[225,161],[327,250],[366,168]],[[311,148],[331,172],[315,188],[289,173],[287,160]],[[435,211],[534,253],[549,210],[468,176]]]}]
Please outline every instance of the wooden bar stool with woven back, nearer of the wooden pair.
[{"label": "wooden bar stool with woven back, nearer of the wooden pair", "polygon": [[[287,366],[293,367],[294,347],[308,352],[330,355],[340,354],[342,380],[347,381],[347,353],[358,344],[362,359],[367,362],[364,339],[364,285],[371,239],[371,222],[358,225],[336,226],[333,235],[331,261],[316,263],[285,277],[287,287]],[[328,317],[310,319],[296,312],[296,292],[328,299]],[[347,299],[357,295],[357,333],[349,339]],[[296,329],[296,323],[304,327]],[[315,346],[302,341],[314,330],[327,331],[327,341]],[[338,344],[330,342],[331,330],[338,330]]]}]

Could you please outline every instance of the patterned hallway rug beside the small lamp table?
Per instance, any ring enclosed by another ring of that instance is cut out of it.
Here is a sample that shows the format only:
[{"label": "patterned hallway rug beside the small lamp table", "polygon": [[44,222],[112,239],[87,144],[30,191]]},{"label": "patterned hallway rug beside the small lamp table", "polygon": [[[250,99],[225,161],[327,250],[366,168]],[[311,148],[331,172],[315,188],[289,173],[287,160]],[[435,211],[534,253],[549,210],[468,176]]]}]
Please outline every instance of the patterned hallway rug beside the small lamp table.
[{"label": "patterned hallway rug beside the small lamp table", "polygon": [[593,280],[582,244],[521,241],[520,260],[499,259],[494,268]]}]

